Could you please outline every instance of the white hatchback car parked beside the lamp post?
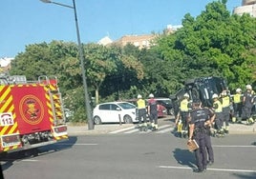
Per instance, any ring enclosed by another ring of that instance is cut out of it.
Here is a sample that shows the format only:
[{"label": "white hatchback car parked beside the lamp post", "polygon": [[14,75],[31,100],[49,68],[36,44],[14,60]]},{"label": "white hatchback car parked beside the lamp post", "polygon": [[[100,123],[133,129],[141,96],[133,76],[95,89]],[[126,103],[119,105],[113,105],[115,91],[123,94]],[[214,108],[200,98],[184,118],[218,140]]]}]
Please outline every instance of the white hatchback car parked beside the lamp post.
[{"label": "white hatchback car parked beside the lamp post", "polygon": [[137,107],[128,102],[109,102],[96,105],[94,109],[94,123],[125,123],[137,121]]}]

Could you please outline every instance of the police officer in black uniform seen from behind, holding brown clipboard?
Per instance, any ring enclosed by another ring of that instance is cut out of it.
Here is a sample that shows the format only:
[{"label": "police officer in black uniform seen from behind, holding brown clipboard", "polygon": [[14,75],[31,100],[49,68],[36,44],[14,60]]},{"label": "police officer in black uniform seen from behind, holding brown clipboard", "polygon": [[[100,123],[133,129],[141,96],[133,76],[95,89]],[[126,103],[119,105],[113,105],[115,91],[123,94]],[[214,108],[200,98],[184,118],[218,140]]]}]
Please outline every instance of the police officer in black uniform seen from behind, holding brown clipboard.
[{"label": "police officer in black uniform seen from behind, holding brown clipboard", "polygon": [[215,114],[212,110],[201,108],[201,102],[195,100],[193,102],[193,110],[189,112],[189,138],[188,143],[192,139],[195,139],[199,145],[199,149],[195,150],[195,156],[197,161],[196,172],[203,172],[207,166],[207,150],[206,143],[208,140],[208,126],[214,120]]}]

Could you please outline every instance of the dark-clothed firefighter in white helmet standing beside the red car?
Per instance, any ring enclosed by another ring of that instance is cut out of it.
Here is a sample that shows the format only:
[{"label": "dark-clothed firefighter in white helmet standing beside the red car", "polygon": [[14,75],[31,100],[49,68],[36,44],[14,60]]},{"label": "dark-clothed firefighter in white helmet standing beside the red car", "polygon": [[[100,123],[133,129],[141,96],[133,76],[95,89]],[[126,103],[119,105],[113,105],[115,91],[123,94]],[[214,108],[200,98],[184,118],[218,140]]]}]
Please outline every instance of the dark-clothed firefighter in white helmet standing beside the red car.
[{"label": "dark-clothed firefighter in white helmet standing beside the red car", "polygon": [[151,122],[151,129],[152,130],[157,130],[159,129],[158,125],[158,109],[159,105],[157,100],[154,98],[154,94],[149,94],[148,96],[150,99],[148,100],[148,114],[149,114],[149,119]]}]

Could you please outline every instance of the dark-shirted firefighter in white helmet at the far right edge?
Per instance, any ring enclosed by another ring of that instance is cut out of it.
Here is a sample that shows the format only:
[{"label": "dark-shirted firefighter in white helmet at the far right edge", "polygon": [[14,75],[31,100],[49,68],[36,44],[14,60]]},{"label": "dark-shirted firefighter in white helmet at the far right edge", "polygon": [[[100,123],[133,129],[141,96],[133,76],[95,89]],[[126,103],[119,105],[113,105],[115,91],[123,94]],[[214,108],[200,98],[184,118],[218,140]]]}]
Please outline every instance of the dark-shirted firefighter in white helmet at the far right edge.
[{"label": "dark-shirted firefighter in white helmet at the far right edge", "polygon": [[251,115],[251,109],[253,107],[253,103],[254,103],[254,96],[253,96],[252,88],[250,85],[246,85],[246,91],[243,96],[242,115],[243,115],[243,119],[246,120],[247,125],[251,125],[254,123],[254,120]]}]

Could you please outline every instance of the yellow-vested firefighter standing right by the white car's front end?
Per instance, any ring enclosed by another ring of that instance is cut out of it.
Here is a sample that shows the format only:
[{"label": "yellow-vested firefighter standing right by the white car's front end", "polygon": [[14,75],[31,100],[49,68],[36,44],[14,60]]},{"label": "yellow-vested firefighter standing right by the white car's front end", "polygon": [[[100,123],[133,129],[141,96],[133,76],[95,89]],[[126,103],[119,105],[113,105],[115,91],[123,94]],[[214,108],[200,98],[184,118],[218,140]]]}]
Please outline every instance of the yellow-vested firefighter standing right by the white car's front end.
[{"label": "yellow-vested firefighter standing right by the white car's front end", "polygon": [[[146,102],[144,99],[142,99],[142,96],[139,94],[138,95],[138,100],[137,100],[137,107],[138,107],[138,117],[139,117],[139,129],[142,129],[143,127],[147,127],[147,116],[146,116]],[[143,118],[143,124],[142,120]]]}]

